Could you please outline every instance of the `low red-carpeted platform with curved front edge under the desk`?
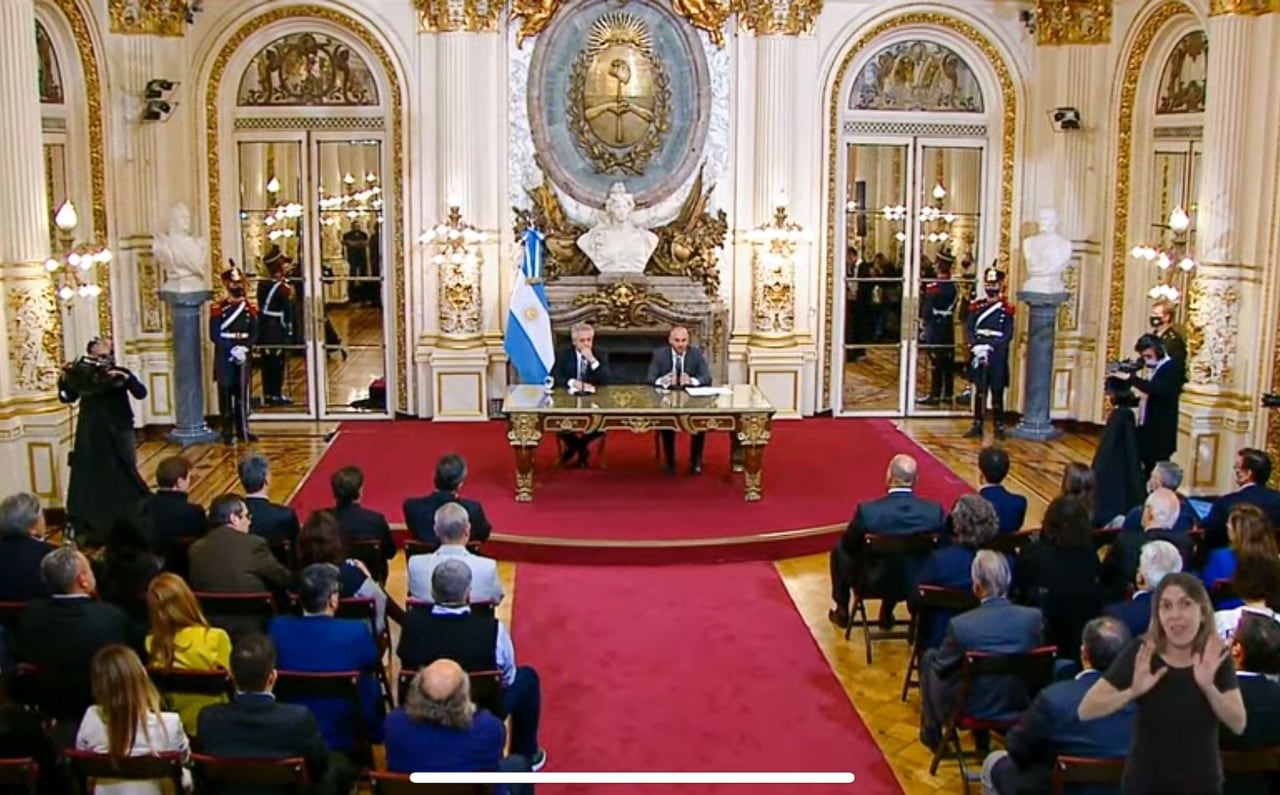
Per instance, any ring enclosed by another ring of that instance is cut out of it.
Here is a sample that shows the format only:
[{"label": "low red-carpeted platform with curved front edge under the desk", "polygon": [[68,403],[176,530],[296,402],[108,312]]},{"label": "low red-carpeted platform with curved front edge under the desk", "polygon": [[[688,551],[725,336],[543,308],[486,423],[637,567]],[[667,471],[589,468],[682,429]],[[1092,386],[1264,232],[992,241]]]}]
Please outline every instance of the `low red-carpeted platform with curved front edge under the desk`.
[{"label": "low red-carpeted platform with curved front edge under the desk", "polygon": [[[687,439],[678,454],[687,460]],[[704,472],[668,476],[653,434],[611,433],[604,466],[562,467],[544,439],[534,502],[517,503],[515,456],[502,422],[347,422],[298,489],[301,512],[332,504],[329,476],[365,471],[365,504],[403,522],[406,497],[431,490],[435,461],[457,452],[470,469],[463,493],[494,526],[492,554],[515,561],[668,563],[773,559],[822,552],[854,506],[881,494],[895,453],[920,463],[920,493],[948,504],[968,486],[886,420],[777,422],[764,453],[764,499],[742,499],[728,438],[712,435]]]}]

